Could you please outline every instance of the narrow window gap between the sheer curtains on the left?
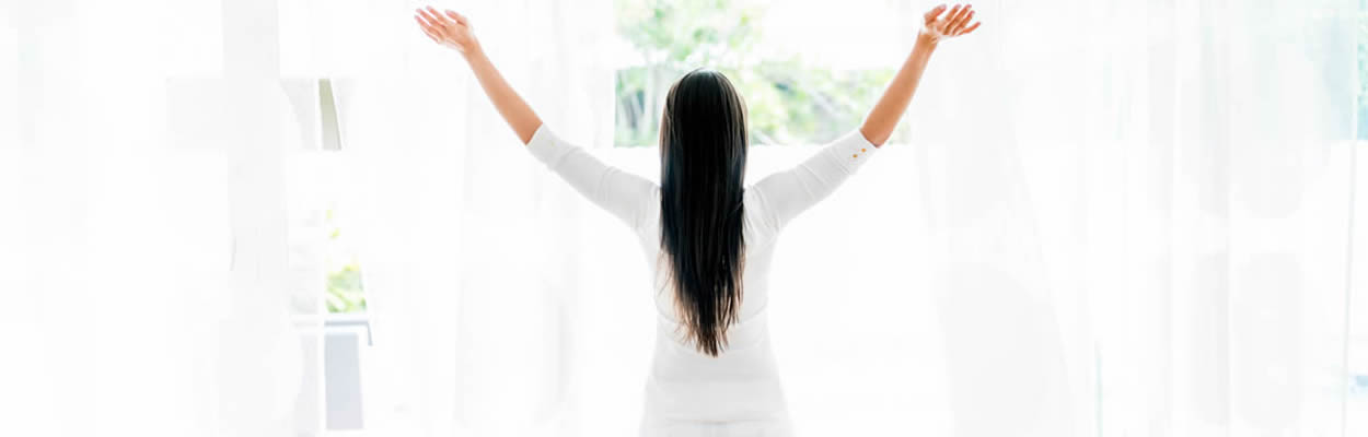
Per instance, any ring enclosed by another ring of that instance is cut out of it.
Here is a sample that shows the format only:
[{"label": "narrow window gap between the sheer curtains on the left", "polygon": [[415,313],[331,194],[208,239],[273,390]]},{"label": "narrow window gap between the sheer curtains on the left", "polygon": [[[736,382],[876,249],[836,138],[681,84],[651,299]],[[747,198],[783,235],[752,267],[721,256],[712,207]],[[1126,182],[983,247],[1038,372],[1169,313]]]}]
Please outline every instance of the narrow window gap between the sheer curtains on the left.
[{"label": "narrow window gap between the sheer curtains on the left", "polygon": [[343,153],[330,79],[286,79],[300,143],[290,153],[290,265],[305,384],[297,421],[308,430],[358,430],[361,365],[369,344],[365,281],[349,229],[356,167]]}]

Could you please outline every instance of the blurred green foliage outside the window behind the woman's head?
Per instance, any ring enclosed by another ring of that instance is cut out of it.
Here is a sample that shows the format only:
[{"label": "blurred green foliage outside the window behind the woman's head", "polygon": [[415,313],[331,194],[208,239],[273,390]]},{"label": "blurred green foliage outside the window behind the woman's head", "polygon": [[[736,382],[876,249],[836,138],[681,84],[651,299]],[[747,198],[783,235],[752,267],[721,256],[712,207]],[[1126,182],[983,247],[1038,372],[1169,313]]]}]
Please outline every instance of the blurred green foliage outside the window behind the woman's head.
[{"label": "blurred green foliage outside the window behind the woman's head", "polygon": [[893,68],[841,71],[802,56],[758,57],[765,12],[747,0],[618,0],[617,31],[643,64],[617,71],[616,143],[655,145],[670,83],[700,67],[725,74],[746,98],[752,143],[821,143],[859,126]]}]

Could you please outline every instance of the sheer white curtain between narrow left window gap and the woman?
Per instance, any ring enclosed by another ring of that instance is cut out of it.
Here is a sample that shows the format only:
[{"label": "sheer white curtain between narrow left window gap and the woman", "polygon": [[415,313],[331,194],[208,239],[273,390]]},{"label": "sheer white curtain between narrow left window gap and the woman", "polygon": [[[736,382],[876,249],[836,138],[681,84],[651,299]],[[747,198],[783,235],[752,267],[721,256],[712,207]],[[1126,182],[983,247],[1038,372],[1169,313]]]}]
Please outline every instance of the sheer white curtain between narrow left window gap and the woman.
[{"label": "sheer white curtain between narrow left window gap and the woman", "polygon": [[[611,145],[610,1],[436,7],[471,16],[505,76],[557,132]],[[596,386],[576,386],[602,356],[576,362],[572,339],[584,321],[576,309],[588,283],[573,262],[598,235],[579,224],[602,217],[523,150],[460,55],[417,31],[412,8],[365,11],[356,15],[371,25],[365,31],[389,41],[367,48],[384,61],[339,82],[338,104],[343,153],[358,171],[349,208],[363,217],[375,333],[367,427],[423,436],[580,429],[584,410],[603,408],[605,399]],[[614,434],[633,423],[621,425]]]}]

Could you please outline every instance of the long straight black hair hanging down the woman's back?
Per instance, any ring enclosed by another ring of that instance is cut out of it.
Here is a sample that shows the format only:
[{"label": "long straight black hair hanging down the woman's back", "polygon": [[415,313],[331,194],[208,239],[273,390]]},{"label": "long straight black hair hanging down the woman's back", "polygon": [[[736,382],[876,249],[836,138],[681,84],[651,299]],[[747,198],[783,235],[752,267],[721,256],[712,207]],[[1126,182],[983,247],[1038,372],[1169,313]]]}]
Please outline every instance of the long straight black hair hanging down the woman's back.
[{"label": "long straight black hair hanging down the woman's back", "polygon": [[661,116],[661,255],[674,310],[699,352],[726,348],[741,306],[746,105],[721,72],[696,70],[670,87]]}]

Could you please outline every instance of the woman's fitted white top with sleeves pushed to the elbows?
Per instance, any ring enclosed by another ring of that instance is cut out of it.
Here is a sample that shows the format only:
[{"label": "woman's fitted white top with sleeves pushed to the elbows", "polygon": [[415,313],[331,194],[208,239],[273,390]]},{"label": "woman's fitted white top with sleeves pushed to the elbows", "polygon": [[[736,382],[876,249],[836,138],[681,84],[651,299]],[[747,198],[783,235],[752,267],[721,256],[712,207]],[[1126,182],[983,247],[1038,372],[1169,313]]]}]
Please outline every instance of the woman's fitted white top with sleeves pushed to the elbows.
[{"label": "woman's fitted white top with sleeves pushed to the elbows", "polygon": [[[699,354],[684,341],[674,314],[674,296],[661,265],[661,188],[646,178],[599,161],[566,143],[544,124],[528,150],[576,191],[629,225],[647,264],[654,266],[657,340],[646,382],[643,430],[677,422],[776,423],[769,434],[787,434],[787,407],[769,344],[766,307],[774,240],[793,217],[826,198],[874,154],[877,147],[859,131],[826,145],[787,171],[746,188],[744,299],[739,322],[728,330],[729,346],[718,356]],[[657,426],[659,425],[659,426]]]}]

